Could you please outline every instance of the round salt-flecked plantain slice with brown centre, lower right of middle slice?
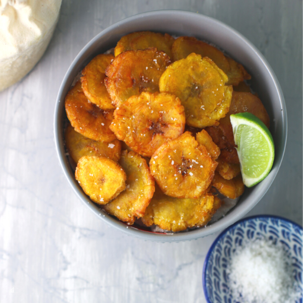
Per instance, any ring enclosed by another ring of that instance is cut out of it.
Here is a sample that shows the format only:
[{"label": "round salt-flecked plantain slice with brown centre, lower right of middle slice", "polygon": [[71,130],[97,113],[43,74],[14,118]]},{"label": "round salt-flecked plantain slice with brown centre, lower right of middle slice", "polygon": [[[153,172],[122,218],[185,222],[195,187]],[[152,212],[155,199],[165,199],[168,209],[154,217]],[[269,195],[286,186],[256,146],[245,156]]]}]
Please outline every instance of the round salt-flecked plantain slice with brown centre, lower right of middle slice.
[{"label": "round salt-flecked plantain slice with brown centre, lower right of middle slice", "polygon": [[149,162],[161,190],[173,197],[198,198],[210,185],[218,163],[190,132],[161,145]]}]

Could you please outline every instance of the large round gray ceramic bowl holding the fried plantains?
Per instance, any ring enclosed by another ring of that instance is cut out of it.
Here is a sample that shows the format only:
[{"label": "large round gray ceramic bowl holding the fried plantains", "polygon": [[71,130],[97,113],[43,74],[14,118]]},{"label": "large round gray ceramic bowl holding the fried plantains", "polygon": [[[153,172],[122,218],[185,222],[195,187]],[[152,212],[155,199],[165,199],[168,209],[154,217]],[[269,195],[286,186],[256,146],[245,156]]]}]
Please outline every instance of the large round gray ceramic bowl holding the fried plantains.
[{"label": "large round gray ceramic bowl holding the fried plantains", "polygon": [[[194,36],[223,49],[227,55],[241,63],[251,74],[251,86],[260,96],[271,118],[270,131],[275,143],[275,161],[265,180],[252,188],[246,188],[238,204],[225,217],[207,227],[190,231],[162,234],[130,227],[100,212],[99,208],[84,194],[74,178],[64,147],[64,99],[76,75],[97,54],[114,47],[125,34],[135,31],[155,31],[174,36]],[[106,223],[146,240],[161,242],[192,240],[210,235],[233,224],[249,212],[263,197],[273,182],[282,162],[287,135],[287,117],[283,94],[277,78],[268,62],[246,38],[229,26],[206,16],[183,11],[156,11],[124,19],[96,35],[78,54],[68,69],[60,87],[55,108],[55,140],[59,161],[70,185],[82,202]]]}]

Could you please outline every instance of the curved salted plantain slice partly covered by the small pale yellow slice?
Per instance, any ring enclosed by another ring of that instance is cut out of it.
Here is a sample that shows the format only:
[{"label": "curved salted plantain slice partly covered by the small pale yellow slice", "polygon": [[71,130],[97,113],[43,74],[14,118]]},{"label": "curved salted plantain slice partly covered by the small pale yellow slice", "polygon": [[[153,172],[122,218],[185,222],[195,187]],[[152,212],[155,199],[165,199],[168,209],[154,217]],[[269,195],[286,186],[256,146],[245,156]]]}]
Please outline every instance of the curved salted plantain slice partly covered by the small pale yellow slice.
[{"label": "curved salted plantain slice partly covered by the small pale yellow slice", "polygon": [[104,210],[119,220],[133,224],[144,215],[155,191],[155,180],[150,175],[146,161],[133,151],[123,150],[119,161],[126,172],[126,189]]}]

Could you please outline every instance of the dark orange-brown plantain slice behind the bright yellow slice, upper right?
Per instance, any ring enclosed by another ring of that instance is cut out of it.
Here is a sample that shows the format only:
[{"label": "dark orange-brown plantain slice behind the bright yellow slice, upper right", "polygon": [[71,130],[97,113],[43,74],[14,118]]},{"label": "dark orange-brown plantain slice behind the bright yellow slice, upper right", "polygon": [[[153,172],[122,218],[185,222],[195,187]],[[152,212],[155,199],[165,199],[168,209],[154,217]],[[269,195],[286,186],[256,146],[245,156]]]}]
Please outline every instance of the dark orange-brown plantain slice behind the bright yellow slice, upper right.
[{"label": "dark orange-brown plantain slice behind the bright yellow slice, upper right", "polygon": [[172,46],[172,53],[174,61],[184,59],[191,53],[212,59],[228,76],[226,85],[238,85],[241,81],[251,78],[241,64],[224,56],[218,48],[194,37],[177,38]]}]

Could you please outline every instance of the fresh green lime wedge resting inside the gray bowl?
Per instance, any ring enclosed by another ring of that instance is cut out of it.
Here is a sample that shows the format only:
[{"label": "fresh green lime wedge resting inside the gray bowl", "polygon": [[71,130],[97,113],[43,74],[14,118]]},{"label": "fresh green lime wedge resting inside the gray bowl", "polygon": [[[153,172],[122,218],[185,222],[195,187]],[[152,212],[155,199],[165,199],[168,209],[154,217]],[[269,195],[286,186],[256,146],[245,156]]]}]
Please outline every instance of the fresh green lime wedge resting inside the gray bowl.
[{"label": "fresh green lime wedge resting inside the gray bowl", "polygon": [[243,183],[251,187],[262,181],[270,172],[275,147],[265,124],[250,113],[230,115]]}]

